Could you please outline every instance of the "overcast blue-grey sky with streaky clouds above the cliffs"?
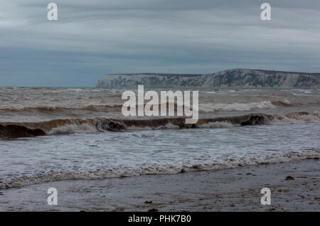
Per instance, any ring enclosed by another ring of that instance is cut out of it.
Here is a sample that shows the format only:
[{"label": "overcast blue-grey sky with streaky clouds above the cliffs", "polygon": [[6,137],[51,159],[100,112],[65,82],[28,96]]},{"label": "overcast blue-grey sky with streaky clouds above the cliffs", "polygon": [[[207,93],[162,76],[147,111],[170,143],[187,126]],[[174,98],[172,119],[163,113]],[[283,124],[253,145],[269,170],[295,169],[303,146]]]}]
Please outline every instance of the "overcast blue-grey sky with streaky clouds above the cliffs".
[{"label": "overcast blue-grey sky with streaky clouds above the cliffs", "polygon": [[[58,6],[49,21],[47,5]],[[271,5],[262,21],[260,6]],[[0,86],[112,73],[320,72],[319,0],[0,0]]]}]

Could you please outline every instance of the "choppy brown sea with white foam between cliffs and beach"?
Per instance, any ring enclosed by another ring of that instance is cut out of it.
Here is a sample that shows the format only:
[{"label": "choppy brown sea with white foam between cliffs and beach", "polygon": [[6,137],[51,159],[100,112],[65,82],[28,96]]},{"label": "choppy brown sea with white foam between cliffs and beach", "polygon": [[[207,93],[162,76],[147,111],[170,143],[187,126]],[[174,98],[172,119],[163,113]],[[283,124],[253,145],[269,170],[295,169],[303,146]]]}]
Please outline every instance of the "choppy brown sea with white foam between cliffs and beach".
[{"label": "choppy brown sea with white foam between cliffs and beach", "polygon": [[[125,119],[123,91],[0,88],[0,189],[319,158],[320,90],[199,90],[192,128]],[[244,126],[250,114],[261,123]]]}]

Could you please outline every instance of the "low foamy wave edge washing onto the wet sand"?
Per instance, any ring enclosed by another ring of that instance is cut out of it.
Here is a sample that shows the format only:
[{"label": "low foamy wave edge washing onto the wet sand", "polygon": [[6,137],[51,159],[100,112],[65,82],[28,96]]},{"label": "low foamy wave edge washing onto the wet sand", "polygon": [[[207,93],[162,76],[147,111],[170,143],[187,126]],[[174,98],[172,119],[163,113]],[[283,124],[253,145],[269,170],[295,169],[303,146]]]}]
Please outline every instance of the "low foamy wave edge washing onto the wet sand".
[{"label": "low foamy wave edge washing onto the wet sand", "polygon": [[245,158],[238,159],[227,158],[220,161],[207,163],[193,163],[190,165],[178,166],[137,166],[137,167],[115,167],[115,168],[97,168],[91,171],[49,171],[46,173],[37,173],[34,176],[16,176],[7,180],[1,179],[0,189],[20,188],[26,185],[46,183],[52,181],[65,180],[97,180],[106,178],[122,178],[129,176],[159,175],[185,173],[190,171],[213,171],[224,168],[236,168],[240,166],[251,166],[259,164],[284,163],[302,159],[319,159],[320,151],[310,149],[301,153],[290,152],[287,154],[272,154],[263,158]]}]

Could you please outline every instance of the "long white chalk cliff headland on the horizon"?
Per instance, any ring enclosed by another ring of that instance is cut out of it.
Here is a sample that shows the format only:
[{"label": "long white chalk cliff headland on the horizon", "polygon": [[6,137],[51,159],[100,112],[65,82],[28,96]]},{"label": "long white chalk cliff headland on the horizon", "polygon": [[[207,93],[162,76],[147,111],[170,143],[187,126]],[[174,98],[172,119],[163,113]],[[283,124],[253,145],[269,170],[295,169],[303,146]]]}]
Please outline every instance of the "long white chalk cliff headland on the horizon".
[{"label": "long white chalk cliff headland on the horizon", "polygon": [[119,74],[105,75],[97,87],[281,87],[319,88],[320,73],[231,69],[207,75]]}]

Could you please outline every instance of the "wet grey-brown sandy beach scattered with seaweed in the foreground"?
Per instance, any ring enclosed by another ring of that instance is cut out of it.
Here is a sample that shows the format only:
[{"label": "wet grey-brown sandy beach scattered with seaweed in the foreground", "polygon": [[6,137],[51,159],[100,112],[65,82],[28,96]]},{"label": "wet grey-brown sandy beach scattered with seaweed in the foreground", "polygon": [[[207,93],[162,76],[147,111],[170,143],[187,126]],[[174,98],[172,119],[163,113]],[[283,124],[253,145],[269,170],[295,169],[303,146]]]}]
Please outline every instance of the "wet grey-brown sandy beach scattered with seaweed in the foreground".
[{"label": "wet grey-brown sandy beach scattered with seaweed in the foreground", "polygon": [[[286,180],[292,176],[293,180]],[[58,205],[48,205],[48,188]],[[261,205],[270,188],[271,205]],[[152,201],[151,203],[146,201]],[[319,160],[0,190],[0,211],[320,211]]]}]

